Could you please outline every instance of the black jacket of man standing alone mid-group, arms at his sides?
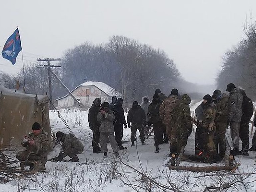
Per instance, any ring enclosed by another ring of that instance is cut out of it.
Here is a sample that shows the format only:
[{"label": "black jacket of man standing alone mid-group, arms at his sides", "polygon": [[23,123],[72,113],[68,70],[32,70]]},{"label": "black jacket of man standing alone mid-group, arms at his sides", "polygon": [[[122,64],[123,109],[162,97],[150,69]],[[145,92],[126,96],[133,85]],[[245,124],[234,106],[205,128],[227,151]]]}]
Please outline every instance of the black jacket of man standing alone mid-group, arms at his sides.
[{"label": "black jacket of man standing alone mid-group, arms at his sides", "polygon": [[145,111],[141,108],[141,106],[132,107],[128,111],[127,115],[127,123],[142,125],[146,121]]}]

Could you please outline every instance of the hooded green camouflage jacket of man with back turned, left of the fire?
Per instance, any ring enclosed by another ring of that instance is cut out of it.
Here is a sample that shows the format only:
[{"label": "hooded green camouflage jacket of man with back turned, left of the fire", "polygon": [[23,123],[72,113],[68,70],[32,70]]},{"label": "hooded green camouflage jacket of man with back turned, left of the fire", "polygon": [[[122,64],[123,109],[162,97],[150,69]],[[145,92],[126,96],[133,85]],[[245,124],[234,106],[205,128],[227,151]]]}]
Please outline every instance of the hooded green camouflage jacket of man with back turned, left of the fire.
[{"label": "hooded green camouflage jacket of man with back turned, left of the fire", "polygon": [[179,104],[174,108],[174,121],[177,125],[177,129],[181,127],[191,128],[191,113],[189,104],[191,102],[190,97],[187,94],[182,95]]}]

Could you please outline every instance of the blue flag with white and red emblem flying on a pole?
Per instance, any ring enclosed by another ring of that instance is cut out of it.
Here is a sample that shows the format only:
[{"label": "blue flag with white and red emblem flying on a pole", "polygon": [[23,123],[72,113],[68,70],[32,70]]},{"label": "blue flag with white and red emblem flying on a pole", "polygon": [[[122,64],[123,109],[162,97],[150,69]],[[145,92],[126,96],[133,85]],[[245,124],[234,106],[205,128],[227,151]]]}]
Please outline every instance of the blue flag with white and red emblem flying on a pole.
[{"label": "blue flag with white and red emblem flying on a pole", "polygon": [[2,55],[3,58],[12,62],[12,65],[16,63],[16,57],[21,50],[20,33],[17,28],[14,33],[7,39]]}]

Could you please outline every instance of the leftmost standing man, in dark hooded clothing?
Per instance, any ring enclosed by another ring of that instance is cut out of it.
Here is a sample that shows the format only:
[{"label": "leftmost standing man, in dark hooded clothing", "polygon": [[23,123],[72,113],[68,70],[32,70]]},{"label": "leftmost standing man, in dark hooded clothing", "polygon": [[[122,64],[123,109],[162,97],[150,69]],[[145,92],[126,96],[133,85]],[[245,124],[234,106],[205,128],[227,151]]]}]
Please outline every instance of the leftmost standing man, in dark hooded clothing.
[{"label": "leftmost standing man, in dark hooded clothing", "polygon": [[89,109],[88,122],[89,127],[92,130],[92,153],[100,153],[100,122],[97,121],[97,116],[100,111],[101,100],[96,98],[93,101],[91,108]]}]

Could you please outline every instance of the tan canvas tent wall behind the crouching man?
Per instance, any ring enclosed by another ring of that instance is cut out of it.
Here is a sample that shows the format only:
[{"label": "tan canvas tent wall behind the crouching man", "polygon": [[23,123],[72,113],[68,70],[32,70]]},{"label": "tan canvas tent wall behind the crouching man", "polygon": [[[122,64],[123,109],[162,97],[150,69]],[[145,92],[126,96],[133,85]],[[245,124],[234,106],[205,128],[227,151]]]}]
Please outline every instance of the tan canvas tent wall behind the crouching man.
[{"label": "tan canvas tent wall behind the crouching man", "polygon": [[0,91],[0,148],[20,146],[34,122],[51,137],[47,96],[19,93],[3,86]]}]

